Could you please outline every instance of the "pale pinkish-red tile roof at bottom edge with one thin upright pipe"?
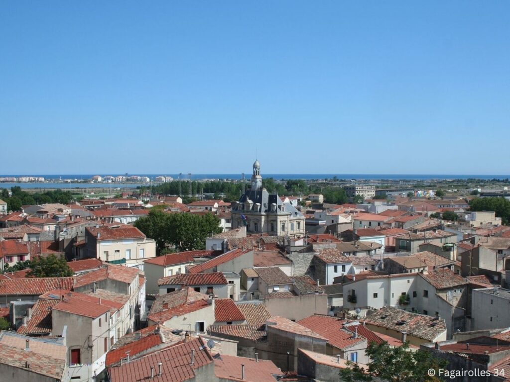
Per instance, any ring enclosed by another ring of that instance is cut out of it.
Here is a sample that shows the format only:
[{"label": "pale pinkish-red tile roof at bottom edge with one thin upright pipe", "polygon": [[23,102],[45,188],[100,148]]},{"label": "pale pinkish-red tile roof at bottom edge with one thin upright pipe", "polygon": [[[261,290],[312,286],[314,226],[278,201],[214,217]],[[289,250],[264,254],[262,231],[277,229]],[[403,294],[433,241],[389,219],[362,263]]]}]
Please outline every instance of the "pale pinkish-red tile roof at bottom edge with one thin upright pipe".
[{"label": "pale pinkish-red tile roof at bottom edge with one thin upright pipe", "polygon": [[[244,365],[244,379],[241,379],[241,365]],[[272,361],[257,361],[225,354],[220,354],[214,359],[214,373],[222,380],[245,380],[246,382],[275,382],[277,379],[274,375],[283,375]]]}]

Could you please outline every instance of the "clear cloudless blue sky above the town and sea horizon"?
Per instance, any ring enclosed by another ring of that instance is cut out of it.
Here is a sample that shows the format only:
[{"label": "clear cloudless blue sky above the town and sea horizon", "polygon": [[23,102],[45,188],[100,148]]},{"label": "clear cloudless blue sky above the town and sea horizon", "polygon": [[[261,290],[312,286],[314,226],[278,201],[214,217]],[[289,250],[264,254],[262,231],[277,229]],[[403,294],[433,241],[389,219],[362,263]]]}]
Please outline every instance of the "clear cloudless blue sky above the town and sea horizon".
[{"label": "clear cloudless blue sky above the town and sea horizon", "polygon": [[509,174],[510,2],[0,3],[0,174]]}]

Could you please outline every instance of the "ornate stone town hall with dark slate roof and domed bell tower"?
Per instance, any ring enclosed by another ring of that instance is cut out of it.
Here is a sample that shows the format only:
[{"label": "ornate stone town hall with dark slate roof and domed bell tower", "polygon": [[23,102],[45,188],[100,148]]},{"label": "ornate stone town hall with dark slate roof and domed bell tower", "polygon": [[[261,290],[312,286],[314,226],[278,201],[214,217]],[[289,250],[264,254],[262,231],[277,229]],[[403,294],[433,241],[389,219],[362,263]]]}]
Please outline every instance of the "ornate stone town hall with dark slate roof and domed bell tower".
[{"label": "ornate stone town hall with dark slate roof and domed bell tower", "polygon": [[305,233],[303,214],[262,187],[258,160],[253,163],[251,188],[232,205],[232,229],[242,226],[249,234],[301,237]]}]

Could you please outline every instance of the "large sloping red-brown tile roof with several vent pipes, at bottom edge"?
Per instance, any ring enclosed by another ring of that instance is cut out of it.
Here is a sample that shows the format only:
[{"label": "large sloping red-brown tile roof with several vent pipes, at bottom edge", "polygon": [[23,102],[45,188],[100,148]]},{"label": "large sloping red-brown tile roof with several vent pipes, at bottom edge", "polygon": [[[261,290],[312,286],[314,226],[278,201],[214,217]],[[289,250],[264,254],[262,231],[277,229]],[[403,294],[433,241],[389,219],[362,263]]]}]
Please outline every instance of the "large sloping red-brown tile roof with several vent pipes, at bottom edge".
[{"label": "large sloping red-brown tile roof with several vent pipes, at bottom edge", "polygon": [[[194,350],[193,364],[191,363]],[[196,377],[195,369],[213,362],[211,353],[201,338],[180,343],[137,360],[108,369],[111,382],[139,382],[150,378],[150,368],[155,368],[154,382],[184,382]],[[158,376],[158,364],[162,364],[162,375]],[[208,375],[202,375],[207,380]],[[212,377],[212,375],[211,375]]]}]

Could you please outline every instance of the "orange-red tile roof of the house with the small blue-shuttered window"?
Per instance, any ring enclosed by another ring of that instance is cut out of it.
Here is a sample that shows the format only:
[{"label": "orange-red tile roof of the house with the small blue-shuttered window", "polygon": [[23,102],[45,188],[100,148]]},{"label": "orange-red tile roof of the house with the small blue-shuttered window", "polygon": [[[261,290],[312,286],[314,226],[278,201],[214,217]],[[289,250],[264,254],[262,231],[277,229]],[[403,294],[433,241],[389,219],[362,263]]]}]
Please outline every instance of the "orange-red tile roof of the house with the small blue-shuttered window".
[{"label": "orange-red tile roof of the house with the small blue-shuttered window", "polygon": [[338,317],[316,314],[303,318],[297,321],[297,323],[320,334],[323,338],[327,339],[329,344],[339,349],[347,349],[365,341],[363,337],[354,338],[353,332],[344,329],[344,324],[348,323],[348,321]]}]

